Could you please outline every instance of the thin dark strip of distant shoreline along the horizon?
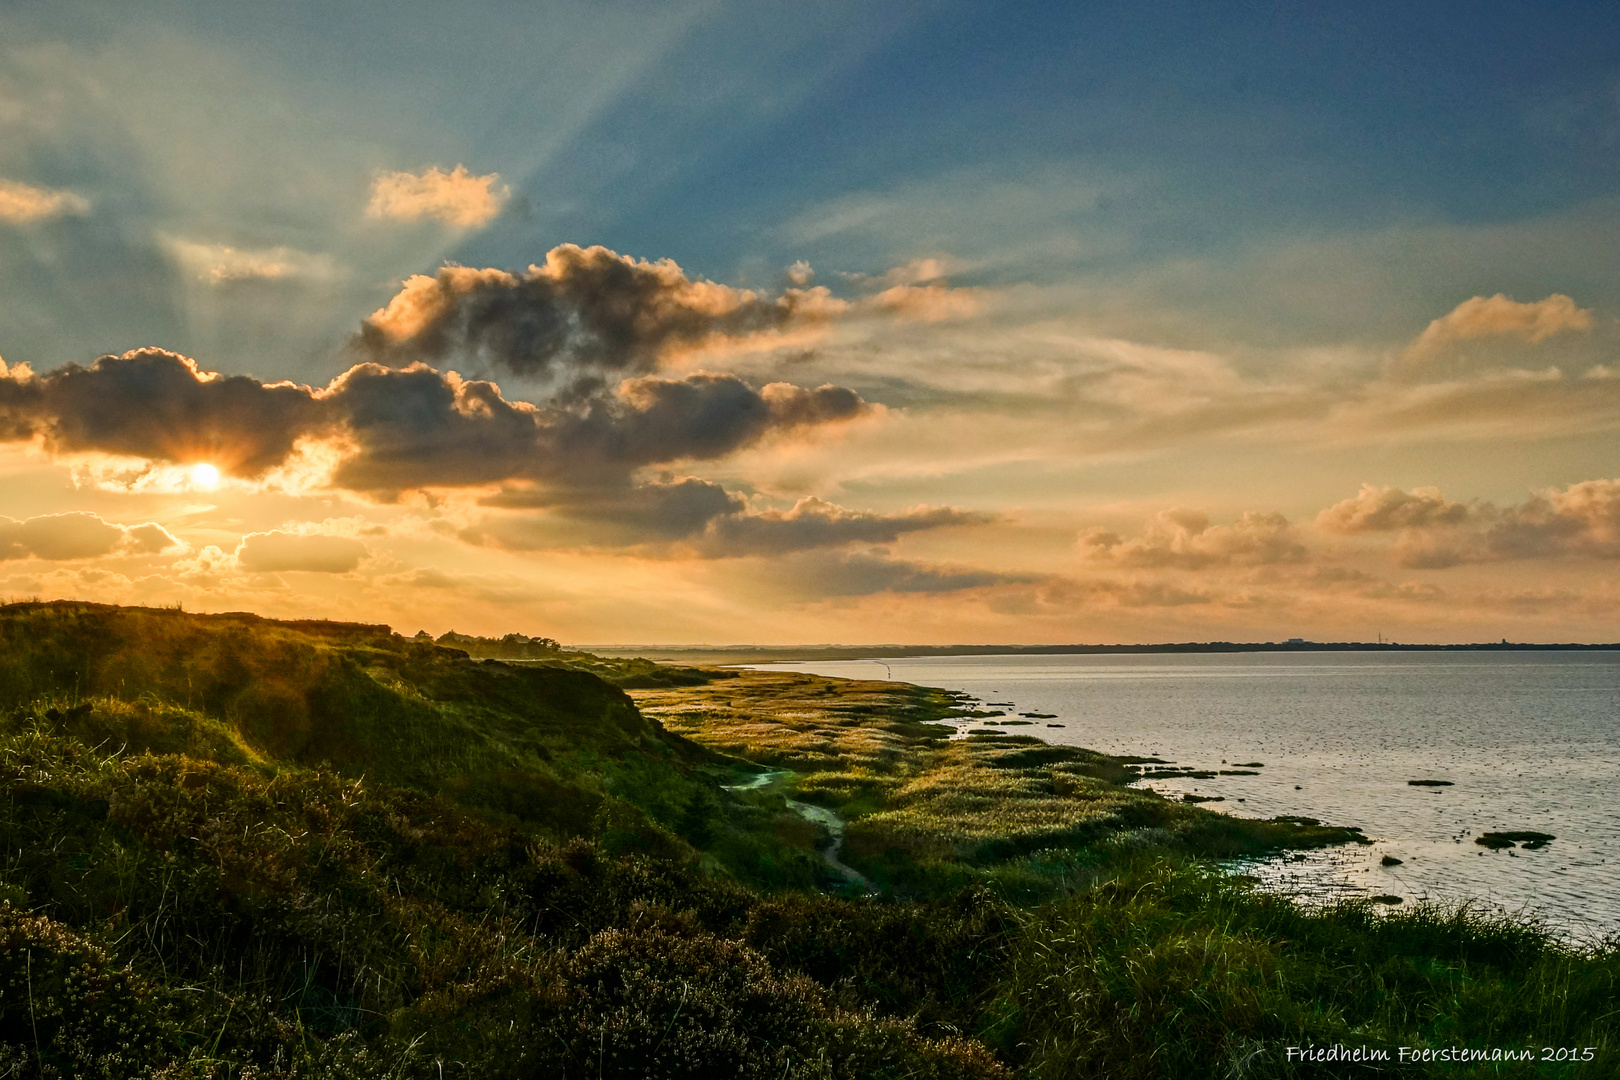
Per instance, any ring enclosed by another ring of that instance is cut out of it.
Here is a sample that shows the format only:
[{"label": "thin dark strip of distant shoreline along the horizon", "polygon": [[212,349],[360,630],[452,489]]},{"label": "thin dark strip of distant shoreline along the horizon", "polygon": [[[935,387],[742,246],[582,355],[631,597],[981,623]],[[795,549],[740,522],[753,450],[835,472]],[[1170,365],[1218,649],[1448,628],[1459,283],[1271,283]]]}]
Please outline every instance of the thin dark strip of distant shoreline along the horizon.
[{"label": "thin dark strip of distant shoreline along the horizon", "polygon": [[935,656],[1110,656],[1145,653],[1615,653],[1609,644],[1398,644],[1393,641],[1179,641],[1166,644],[585,644],[596,656],[640,656],[684,664],[917,659]]}]

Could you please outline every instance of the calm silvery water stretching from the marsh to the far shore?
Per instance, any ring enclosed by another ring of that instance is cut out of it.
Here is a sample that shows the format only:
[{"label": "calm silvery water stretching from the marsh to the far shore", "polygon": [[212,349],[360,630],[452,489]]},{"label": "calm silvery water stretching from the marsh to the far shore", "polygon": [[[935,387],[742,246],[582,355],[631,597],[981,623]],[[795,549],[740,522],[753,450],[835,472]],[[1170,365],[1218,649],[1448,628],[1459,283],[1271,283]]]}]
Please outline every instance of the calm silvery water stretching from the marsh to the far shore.
[{"label": "calm silvery water stretching from the marsh to the far shore", "polygon": [[[1009,730],[1259,776],[1153,780],[1241,816],[1361,826],[1372,847],[1267,860],[1302,895],[1473,899],[1580,938],[1620,931],[1620,653],[951,656],[782,664],[967,691]],[[1048,727],[1061,724],[1063,727]],[[964,727],[978,724],[964,724]],[[1452,780],[1411,787],[1408,780]],[[1533,829],[1537,852],[1474,837]],[[1383,868],[1393,855],[1400,866]]]}]

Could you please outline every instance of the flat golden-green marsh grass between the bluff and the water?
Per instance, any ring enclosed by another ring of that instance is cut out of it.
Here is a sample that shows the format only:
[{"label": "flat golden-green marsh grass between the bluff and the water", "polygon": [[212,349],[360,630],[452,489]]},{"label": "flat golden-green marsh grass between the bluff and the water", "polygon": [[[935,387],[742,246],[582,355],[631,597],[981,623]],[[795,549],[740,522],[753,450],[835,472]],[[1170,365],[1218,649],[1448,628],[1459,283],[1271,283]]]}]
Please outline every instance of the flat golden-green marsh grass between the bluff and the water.
[{"label": "flat golden-green marsh grass between the bluff and the water", "polygon": [[1030,871],[1034,852],[1081,850],[1124,829],[1165,845],[1231,857],[1356,839],[1304,821],[1246,821],[1128,787],[1128,759],[988,730],[951,738],[970,716],[941,690],[797,672],[635,691],[642,711],[719,753],[794,774],[795,798],[844,816],[844,860],[906,897],[974,881],[1029,900],[1058,895],[1061,874]]}]

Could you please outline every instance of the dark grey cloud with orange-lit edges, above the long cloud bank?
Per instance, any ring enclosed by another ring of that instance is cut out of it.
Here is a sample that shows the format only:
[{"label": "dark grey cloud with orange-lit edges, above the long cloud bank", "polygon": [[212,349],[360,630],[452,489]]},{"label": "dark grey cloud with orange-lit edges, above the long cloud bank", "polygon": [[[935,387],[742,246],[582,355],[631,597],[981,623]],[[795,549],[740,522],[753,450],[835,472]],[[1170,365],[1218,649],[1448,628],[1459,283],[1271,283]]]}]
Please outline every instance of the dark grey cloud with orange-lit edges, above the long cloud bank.
[{"label": "dark grey cloud with orange-lit edges, above the long cloud bank", "polygon": [[418,274],[363,324],[386,363],[486,363],[525,376],[650,374],[676,350],[813,322],[847,308],[826,288],[779,296],[687,277],[671,259],[562,244],[522,274]]}]

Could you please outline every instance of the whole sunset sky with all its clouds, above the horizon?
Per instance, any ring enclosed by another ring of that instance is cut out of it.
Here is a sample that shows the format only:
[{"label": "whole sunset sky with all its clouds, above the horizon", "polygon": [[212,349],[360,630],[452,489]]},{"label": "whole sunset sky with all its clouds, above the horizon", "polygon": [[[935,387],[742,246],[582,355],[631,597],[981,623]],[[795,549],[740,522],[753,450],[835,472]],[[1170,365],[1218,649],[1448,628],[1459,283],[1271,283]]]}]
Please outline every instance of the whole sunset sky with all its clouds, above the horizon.
[{"label": "whole sunset sky with all its clouds, above the horizon", "polygon": [[1620,641],[1617,40],[0,0],[0,599]]}]

